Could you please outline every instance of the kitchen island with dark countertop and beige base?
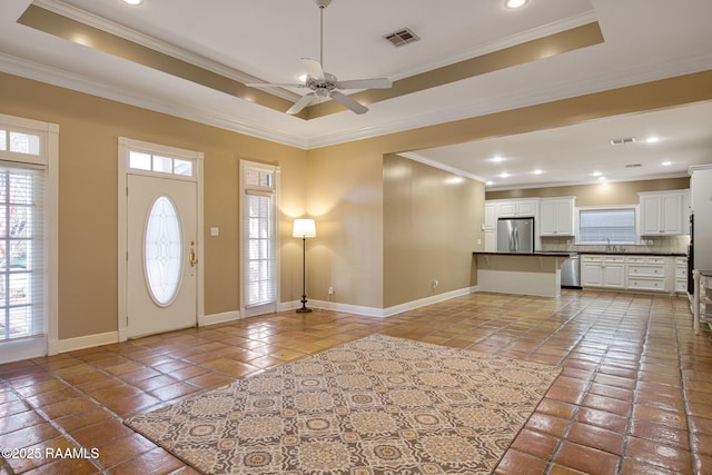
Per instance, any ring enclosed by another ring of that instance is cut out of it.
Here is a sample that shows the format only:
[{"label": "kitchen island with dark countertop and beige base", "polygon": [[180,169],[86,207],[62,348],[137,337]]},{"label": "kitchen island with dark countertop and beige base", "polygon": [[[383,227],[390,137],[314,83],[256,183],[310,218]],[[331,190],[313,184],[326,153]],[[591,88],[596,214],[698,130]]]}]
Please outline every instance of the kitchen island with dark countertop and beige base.
[{"label": "kitchen island with dark countertop and beige base", "polygon": [[498,294],[558,297],[561,265],[575,254],[475,251],[477,288]]}]

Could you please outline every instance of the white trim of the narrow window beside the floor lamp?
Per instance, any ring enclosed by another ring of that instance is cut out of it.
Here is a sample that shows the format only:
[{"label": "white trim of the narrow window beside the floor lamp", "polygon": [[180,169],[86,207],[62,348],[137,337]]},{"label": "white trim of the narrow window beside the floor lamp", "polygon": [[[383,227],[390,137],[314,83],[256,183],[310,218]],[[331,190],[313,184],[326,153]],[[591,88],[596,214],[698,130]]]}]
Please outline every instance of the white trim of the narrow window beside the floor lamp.
[{"label": "white trim of the narrow window beside the floor lamp", "polygon": [[274,311],[277,311],[279,309],[279,296],[281,295],[280,293],[280,259],[279,259],[279,181],[280,181],[280,169],[279,166],[277,165],[267,165],[267,164],[260,164],[260,162],[256,162],[256,161],[249,161],[249,160],[240,160],[240,169],[239,169],[239,245],[238,245],[238,249],[239,251],[239,259],[240,259],[240,318],[243,317],[249,317],[253,315],[260,315],[264,314],[264,311],[261,311],[265,307],[271,305],[271,304],[266,304],[263,306],[258,306],[258,307],[250,307],[250,308],[246,308],[245,307],[245,283],[247,283],[247,266],[245,265],[245,253],[246,253],[246,237],[247,237],[247,231],[245,229],[245,225],[247,222],[246,216],[245,216],[245,204],[246,200],[244,199],[245,195],[247,194],[247,186],[245,185],[245,169],[258,169],[258,170],[263,170],[265,172],[269,172],[274,175],[275,178],[275,182],[274,182],[274,187],[269,188],[269,187],[250,187],[250,190],[255,194],[255,195],[273,195],[275,198],[275,303],[274,303]]}]

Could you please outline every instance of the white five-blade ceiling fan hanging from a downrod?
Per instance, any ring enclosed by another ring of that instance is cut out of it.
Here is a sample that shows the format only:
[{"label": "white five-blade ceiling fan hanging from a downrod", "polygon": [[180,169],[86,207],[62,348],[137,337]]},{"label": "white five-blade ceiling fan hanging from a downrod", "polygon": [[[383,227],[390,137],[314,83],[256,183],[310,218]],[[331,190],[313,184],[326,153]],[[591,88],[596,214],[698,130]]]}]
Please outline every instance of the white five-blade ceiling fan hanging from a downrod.
[{"label": "white five-blade ceiling fan hanging from a downrod", "polygon": [[310,58],[301,58],[307,70],[307,77],[304,83],[267,83],[267,82],[250,82],[245,86],[253,88],[307,88],[312,89],[301,99],[295,102],[294,106],[287,110],[287,113],[299,113],[301,109],[313,103],[318,102],[320,99],[332,98],[339,102],[342,106],[350,109],[356,113],[364,113],[368,108],[350,97],[346,96],[340,89],[388,89],[392,83],[387,78],[372,78],[372,79],[354,79],[347,81],[339,81],[336,76],[330,72],[324,71],[324,9],[332,3],[332,0],[314,0],[319,7],[320,16],[320,43],[319,43],[319,60]]}]

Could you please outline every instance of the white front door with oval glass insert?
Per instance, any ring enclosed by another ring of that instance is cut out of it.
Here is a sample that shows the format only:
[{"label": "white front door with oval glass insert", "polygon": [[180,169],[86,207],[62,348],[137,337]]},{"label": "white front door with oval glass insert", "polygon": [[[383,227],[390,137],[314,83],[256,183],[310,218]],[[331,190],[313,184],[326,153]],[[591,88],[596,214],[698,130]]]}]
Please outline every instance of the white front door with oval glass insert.
[{"label": "white front door with oval glass insert", "polygon": [[197,184],[128,175],[127,327],[138,337],[197,323]]}]

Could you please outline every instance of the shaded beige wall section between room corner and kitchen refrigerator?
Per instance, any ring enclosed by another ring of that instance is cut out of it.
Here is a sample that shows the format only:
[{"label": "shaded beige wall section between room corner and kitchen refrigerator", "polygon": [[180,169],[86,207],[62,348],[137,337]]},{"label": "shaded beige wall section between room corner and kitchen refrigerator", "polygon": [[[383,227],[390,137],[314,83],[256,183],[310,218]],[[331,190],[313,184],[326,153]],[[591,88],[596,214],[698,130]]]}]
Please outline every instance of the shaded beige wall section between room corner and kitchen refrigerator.
[{"label": "shaded beige wall section between room corner and kitchen refrigerator", "polygon": [[383,176],[384,307],[476,285],[483,184],[395,155]]}]

